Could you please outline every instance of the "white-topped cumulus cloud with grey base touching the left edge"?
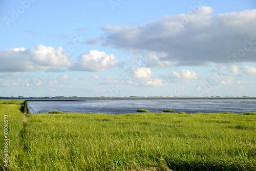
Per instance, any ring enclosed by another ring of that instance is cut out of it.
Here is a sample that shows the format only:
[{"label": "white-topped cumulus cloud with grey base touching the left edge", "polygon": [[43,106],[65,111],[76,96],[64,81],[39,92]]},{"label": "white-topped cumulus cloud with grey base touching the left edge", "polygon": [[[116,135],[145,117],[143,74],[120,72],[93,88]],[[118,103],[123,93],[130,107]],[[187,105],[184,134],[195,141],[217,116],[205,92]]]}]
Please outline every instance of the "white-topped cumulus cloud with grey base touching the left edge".
[{"label": "white-topped cumulus cloud with grey base touching the left edge", "polygon": [[35,48],[13,48],[0,50],[0,72],[28,72],[47,70],[52,67],[69,67],[70,56],[63,48],[37,45]]}]

